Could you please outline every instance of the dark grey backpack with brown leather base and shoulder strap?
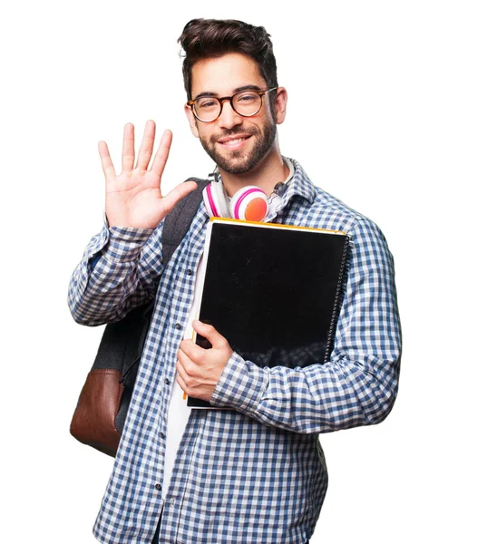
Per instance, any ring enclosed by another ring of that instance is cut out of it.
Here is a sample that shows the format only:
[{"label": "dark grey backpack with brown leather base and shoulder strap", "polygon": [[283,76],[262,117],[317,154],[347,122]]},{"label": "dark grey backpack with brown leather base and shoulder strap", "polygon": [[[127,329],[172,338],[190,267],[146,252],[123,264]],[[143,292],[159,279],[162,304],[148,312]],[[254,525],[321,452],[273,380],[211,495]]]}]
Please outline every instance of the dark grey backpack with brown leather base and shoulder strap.
[{"label": "dark grey backpack with brown leather base and shoulder strap", "polygon": [[[209,180],[190,180],[197,182],[197,189],[181,199],[164,219],[161,238],[164,268],[190,228],[202,190],[209,184]],[[121,440],[154,306],[155,298],[132,309],[121,321],[105,325],[73,413],[70,426],[73,437],[112,457]]]}]

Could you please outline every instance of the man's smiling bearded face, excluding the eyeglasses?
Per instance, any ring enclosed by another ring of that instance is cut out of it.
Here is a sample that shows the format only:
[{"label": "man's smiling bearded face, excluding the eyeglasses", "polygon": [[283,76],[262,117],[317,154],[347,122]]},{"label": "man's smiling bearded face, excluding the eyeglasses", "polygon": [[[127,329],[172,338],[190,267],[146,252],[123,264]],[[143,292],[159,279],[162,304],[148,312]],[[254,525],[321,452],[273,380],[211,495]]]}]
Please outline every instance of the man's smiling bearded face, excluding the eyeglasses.
[{"label": "man's smiling bearded face, excluding the eyeglasses", "polygon": [[[214,93],[218,98],[231,96],[248,85],[261,91],[268,88],[257,63],[244,54],[227,53],[219,58],[206,59],[195,63],[191,70],[193,99],[204,92]],[[277,132],[269,100],[266,94],[260,111],[253,117],[239,115],[228,101],[223,102],[216,121],[198,121],[190,108],[186,110],[191,130],[200,138],[202,147],[219,169],[243,174],[253,170],[268,155]]]}]

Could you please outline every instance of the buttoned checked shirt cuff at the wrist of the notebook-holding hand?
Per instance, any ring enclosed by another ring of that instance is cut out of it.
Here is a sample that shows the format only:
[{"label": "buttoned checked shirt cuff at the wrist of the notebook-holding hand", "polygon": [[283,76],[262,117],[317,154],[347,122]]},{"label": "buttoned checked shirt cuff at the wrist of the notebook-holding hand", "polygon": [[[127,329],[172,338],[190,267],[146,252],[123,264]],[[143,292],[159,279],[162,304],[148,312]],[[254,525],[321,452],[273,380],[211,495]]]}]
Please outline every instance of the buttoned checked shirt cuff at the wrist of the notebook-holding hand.
[{"label": "buttoned checked shirt cuff at the wrist of the notebook-holding hand", "polygon": [[219,382],[210,397],[214,406],[229,407],[250,415],[268,388],[268,369],[245,361],[236,352],[229,357]]}]

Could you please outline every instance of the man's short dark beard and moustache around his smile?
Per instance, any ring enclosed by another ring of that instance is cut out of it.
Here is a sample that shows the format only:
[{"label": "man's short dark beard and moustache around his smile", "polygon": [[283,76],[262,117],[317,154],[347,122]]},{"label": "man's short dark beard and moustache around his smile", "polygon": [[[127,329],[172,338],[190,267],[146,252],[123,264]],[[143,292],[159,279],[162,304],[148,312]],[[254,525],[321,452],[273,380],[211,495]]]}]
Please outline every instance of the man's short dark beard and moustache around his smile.
[{"label": "man's short dark beard and moustache around his smile", "polygon": [[[276,122],[271,120],[265,121],[261,129],[258,127],[250,127],[249,129],[237,127],[222,134],[200,137],[200,143],[219,169],[229,172],[229,174],[245,174],[256,168],[258,163],[266,157],[276,139],[276,132]],[[250,134],[250,140],[253,140],[252,148],[248,151],[228,151],[229,157],[227,157],[218,149],[217,141],[237,134]]]}]

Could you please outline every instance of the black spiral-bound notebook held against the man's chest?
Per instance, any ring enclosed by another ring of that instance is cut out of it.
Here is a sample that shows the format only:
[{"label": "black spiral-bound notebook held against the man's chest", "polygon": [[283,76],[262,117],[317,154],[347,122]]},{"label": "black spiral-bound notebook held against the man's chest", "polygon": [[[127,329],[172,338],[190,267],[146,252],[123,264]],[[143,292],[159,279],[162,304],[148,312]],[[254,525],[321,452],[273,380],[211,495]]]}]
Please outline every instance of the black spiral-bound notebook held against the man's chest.
[{"label": "black spiral-bound notebook held against the man's chest", "polygon": [[[346,281],[344,232],[211,219],[195,315],[258,366],[329,360]],[[209,341],[195,336],[198,345]],[[188,398],[192,408],[217,408]]]}]

